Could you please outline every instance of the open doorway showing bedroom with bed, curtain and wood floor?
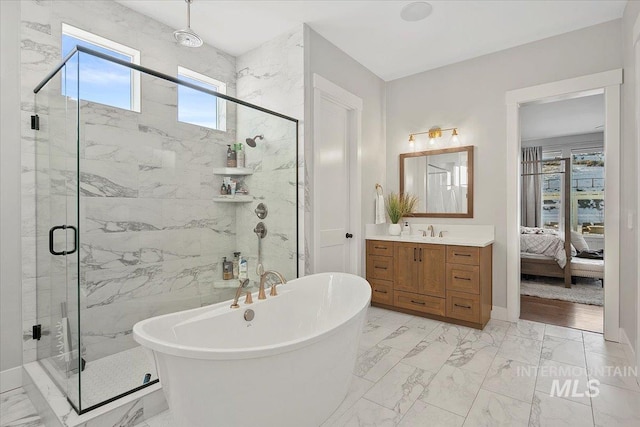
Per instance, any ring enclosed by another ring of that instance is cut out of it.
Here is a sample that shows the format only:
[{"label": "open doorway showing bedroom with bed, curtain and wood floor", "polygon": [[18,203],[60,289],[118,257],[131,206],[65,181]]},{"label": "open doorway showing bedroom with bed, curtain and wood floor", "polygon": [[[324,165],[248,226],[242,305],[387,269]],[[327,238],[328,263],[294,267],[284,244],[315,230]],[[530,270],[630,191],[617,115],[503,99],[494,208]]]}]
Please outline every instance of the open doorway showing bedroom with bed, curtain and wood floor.
[{"label": "open doorway showing bedroom with bed, curtain and wood floor", "polygon": [[568,96],[520,106],[520,318],[602,333],[604,93]]}]

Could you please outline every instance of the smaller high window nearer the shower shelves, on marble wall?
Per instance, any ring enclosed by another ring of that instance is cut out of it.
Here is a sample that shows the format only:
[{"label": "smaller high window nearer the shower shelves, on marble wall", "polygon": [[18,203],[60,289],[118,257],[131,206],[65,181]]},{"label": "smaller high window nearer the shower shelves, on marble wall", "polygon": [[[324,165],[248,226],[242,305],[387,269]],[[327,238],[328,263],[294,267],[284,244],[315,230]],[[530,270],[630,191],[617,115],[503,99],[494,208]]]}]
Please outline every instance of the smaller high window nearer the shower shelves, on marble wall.
[{"label": "smaller high window nearer the shower shelves, on marble wall", "polygon": [[[178,67],[178,78],[204,89],[227,93],[225,83],[184,67]],[[179,85],[178,120],[183,123],[225,131],[227,129],[226,101],[208,93]]]}]

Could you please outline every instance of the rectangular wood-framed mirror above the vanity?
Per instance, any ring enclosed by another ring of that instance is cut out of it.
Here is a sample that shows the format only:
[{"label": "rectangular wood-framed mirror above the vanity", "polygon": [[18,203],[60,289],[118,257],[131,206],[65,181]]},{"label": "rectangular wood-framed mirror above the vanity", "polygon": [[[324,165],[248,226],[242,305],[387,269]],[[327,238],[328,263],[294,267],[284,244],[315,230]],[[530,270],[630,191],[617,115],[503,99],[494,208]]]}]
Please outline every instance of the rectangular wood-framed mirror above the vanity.
[{"label": "rectangular wood-framed mirror above the vanity", "polygon": [[418,197],[410,216],[473,218],[473,146],[400,154],[400,193]]}]

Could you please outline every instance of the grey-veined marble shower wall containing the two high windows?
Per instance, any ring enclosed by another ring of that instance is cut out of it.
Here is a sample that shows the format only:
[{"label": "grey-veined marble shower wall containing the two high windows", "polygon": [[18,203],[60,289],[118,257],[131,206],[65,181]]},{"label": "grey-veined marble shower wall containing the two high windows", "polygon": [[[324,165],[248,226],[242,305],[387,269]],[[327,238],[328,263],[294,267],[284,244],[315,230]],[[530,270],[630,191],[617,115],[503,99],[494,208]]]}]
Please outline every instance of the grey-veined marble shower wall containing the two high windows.
[{"label": "grey-veined marble shower wall containing the two high windows", "polygon": [[[139,319],[217,300],[213,282],[221,257],[235,249],[236,220],[235,207],[211,200],[219,186],[211,169],[224,165],[236,117],[228,106],[226,132],[178,123],[175,85],[142,76],[140,113],[81,102],[76,147],[77,106],[60,96],[59,78],[37,103],[33,94],[61,60],[61,23],[139,49],[145,67],[175,75],[182,65],[224,81],[231,96],[236,60],[211,46],[179,48],[172,28],[113,1],[22,1],[21,8],[24,363],[36,359],[37,312],[45,329],[39,350],[55,348],[48,339],[58,304],[77,294],[78,279],[90,361],[132,346]],[[34,111],[38,132],[29,128]],[[49,256],[47,233],[54,222],[74,220],[76,151],[81,274],[64,288],[59,282],[77,269],[72,257],[65,265],[63,257]]]}]

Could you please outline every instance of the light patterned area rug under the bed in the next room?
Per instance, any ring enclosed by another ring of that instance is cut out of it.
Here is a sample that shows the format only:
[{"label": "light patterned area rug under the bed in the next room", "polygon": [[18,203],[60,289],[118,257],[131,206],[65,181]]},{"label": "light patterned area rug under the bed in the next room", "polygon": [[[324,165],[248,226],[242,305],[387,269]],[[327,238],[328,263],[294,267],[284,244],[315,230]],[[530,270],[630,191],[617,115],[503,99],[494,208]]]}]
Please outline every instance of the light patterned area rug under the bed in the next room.
[{"label": "light patterned area rug under the bed in the next room", "polygon": [[571,288],[564,287],[562,279],[535,277],[520,281],[520,295],[577,302],[580,304],[604,305],[604,289],[600,280],[578,278]]}]

